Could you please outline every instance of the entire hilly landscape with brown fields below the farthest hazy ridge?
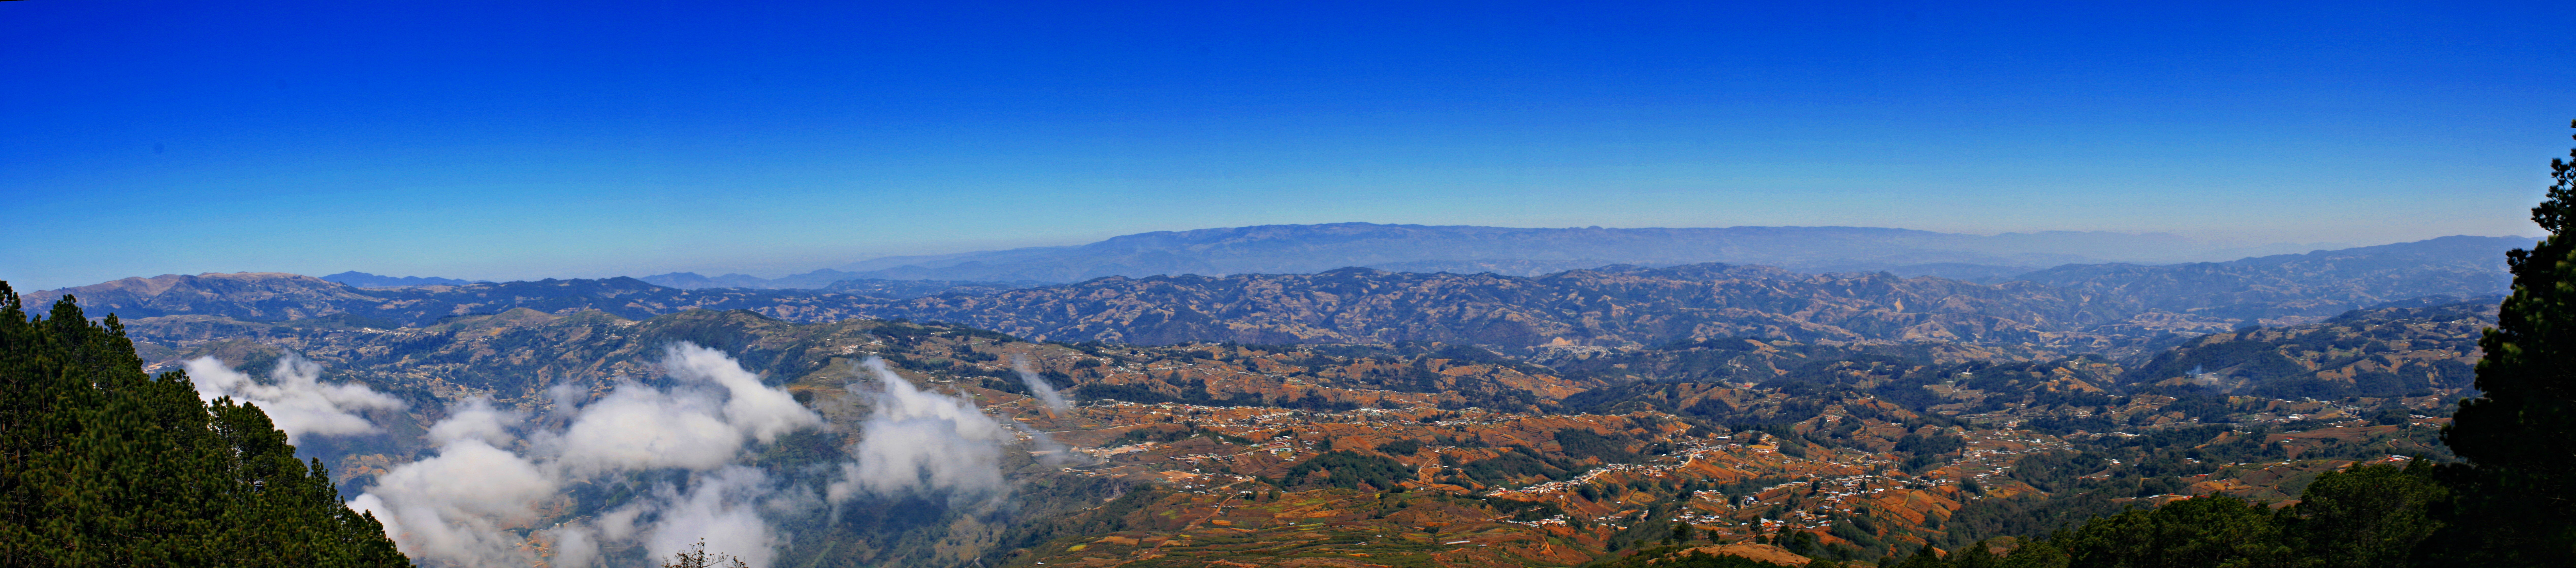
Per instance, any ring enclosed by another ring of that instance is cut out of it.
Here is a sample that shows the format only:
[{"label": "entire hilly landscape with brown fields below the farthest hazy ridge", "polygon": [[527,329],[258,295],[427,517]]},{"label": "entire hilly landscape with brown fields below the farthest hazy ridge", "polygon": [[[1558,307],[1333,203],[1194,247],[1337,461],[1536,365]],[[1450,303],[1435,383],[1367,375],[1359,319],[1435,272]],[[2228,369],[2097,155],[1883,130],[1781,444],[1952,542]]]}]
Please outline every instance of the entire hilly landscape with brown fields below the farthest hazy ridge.
[{"label": "entire hilly landscape with brown fields below the farthest hazy ridge", "polygon": [[[842,270],[781,290],[209,272],[21,301],[77,296],[118,316],[149,370],[206,386],[265,373],[260,388],[309,401],[381,393],[345,409],[368,429],[307,432],[299,457],[330,463],[343,499],[410,522],[404,553],[425,563],[562,560],[600,535],[603,558],[639,565],[659,550],[618,537],[641,524],[629,519],[683,527],[670,519],[690,504],[732,496],[775,565],[1463,568],[1631,550],[1646,565],[1698,540],[1685,532],[1790,565],[1891,565],[2184,493],[2298,499],[2354,460],[2452,460],[2442,416],[2414,414],[2473,393],[2476,339],[2506,290],[2499,252],[2524,244],[1989,278],[1736,262],[1079,283]],[[240,396],[312,406],[268,391]],[[814,419],[721,463],[574,455],[605,470],[541,475],[489,514],[513,524],[420,514],[510,470],[440,470],[448,455],[551,463],[569,457],[546,439],[574,437],[680,447],[659,445],[659,424],[732,432],[734,401],[778,404],[739,416]],[[956,419],[886,419],[930,411]],[[502,445],[448,439],[484,424]],[[889,450],[912,439],[938,452]],[[899,475],[860,468],[881,463]],[[971,475],[912,475],[933,468]],[[842,486],[894,481],[945,486]],[[440,527],[502,547],[412,537]]]}]

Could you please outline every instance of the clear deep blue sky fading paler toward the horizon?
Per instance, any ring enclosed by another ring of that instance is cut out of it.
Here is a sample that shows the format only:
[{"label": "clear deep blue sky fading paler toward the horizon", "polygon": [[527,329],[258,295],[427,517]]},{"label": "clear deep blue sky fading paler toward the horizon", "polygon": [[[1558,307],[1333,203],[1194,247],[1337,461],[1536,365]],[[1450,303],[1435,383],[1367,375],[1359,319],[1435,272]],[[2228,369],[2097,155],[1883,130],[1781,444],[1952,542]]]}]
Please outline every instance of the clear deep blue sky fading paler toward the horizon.
[{"label": "clear deep blue sky fading paler toward the horizon", "polygon": [[2537,234],[2566,3],[2089,5],[0,3],[0,280],[1327,221]]}]

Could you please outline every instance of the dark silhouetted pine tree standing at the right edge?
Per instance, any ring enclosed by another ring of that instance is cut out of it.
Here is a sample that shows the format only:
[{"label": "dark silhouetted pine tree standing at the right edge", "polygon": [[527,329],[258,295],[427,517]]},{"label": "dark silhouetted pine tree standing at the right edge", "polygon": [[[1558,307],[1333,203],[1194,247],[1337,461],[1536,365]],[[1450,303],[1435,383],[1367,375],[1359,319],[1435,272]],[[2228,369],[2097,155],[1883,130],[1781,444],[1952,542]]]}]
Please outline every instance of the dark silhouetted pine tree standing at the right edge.
[{"label": "dark silhouetted pine tree standing at the right edge", "polygon": [[[2568,123],[2576,129],[2576,121]],[[2576,157],[2576,149],[2568,152]],[[2458,496],[2442,555],[2478,565],[2576,565],[2576,162],[2550,159],[2532,224],[2550,231],[2514,249],[2514,296],[2478,339],[2478,391],[2442,442],[2468,460],[2445,470]]]}]

